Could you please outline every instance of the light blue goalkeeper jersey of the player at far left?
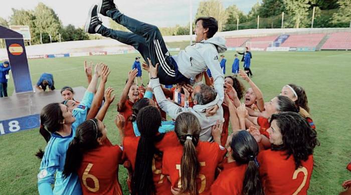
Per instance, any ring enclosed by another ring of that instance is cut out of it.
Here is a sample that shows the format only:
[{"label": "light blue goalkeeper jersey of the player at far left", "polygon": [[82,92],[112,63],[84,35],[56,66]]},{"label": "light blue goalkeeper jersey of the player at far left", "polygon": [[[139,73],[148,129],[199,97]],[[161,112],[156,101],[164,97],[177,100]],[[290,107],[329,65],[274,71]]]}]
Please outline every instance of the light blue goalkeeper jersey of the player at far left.
[{"label": "light blue goalkeeper jersey of the player at far left", "polygon": [[[64,178],[62,172],[65,166],[68,145],[76,133],[77,126],[85,121],[93,97],[94,93],[86,91],[78,107],[72,110],[72,115],[76,118],[76,121],[72,124],[70,135],[51,134],[40,163],[40,172],[38,174],[39,194],[82,194],[77,174],[72,173]],[[52,189],[51,184],[54,182],[54,189]]]}]

